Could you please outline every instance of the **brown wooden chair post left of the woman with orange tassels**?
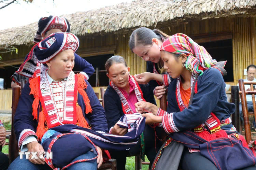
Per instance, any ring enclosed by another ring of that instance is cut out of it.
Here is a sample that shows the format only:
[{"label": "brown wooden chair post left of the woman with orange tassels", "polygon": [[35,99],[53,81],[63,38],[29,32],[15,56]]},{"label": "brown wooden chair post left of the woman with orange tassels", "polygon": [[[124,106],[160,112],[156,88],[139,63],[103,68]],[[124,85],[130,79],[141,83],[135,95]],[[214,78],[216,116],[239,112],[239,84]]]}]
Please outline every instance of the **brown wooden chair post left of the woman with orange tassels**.
[{"label": "brown wooden chair post left of the woman with orange tassels", "polygon": [[13,120],[14,115],[18,106],[20,98],[20,87],[14,87],[12,89],[12,128],[11,135],[9,136],[9,159],[12,162],[19,153],[18,142],[16,140],[16,135],[14,133]]}]

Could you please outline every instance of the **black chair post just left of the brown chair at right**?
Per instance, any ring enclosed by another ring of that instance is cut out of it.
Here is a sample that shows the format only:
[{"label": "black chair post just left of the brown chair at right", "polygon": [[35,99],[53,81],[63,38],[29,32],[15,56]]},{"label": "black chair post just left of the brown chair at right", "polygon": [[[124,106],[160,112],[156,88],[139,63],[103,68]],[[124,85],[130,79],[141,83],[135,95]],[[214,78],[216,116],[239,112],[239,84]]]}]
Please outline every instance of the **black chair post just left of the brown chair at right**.
[{"label": "black chair post just left of the brown chair at right", "polygon": [[239,88],[238,86],[231,86],[231,102],[235,104],[236,110],[232,115],[232,123],[236,131],[240,133],[240,113],[239,113]]}]

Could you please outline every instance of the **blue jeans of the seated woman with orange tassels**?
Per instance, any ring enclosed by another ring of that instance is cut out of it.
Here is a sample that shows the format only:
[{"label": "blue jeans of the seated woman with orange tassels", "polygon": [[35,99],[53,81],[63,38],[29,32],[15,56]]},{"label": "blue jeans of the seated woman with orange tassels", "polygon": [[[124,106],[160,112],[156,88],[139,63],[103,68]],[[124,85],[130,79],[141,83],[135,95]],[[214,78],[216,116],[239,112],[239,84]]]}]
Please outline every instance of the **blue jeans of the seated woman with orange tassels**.
[{"label": "blue jeans of the seated woman with orange tassels", "polygon": [[[93,158],[96,155],[89,151],[83,155],[78,156],[72,162],[79,160],[79,159],[89,159]],[[55,167],[56,168],[56,167]],[[26,159],[26,155],[23,155],[23,159],[20,159],[18,156],[9,166],[8,170],[52,170],[46,163],[44,165],[33,164],[28,159]],[[89,161],[89,162],[78,162],[74,165],[71,165],[67,168],[68,170],[77,170],[77,169],[88,169],[88,170],[97,170],[97,162]]]}]

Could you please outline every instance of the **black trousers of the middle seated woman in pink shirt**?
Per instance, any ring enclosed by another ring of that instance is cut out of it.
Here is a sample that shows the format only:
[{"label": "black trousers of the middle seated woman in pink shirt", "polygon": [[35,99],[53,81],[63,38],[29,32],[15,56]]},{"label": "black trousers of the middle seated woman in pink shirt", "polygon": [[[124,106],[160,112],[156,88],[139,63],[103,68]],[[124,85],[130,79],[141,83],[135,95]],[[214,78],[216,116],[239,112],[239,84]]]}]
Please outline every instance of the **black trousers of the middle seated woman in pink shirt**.
[{"label": "black trousers of the middle seated woman in pink shirt", "polygon": [[[158,134],[160,133],[160,131],[161,129],[157,127],[156,133]],[[161,141],[157,140],[157,138],[155,140],[155,130],[154,128],[151,128],[149,125],[145,125],[143,134],[144,134],[144,140],[145,140],[145,155],[150,161],[150,165],[149,165],[149,168],[150,168],[158,150],[161,147]],[[140,155],[140,149],[141,149],[141,141],[139,140],[139,142],[135,146],[131,147],[129,150],[124,150],[124,151],[109,150],[109,152],[110,152],[111,158],[114,158],[117,161],[117,170],[125,170],[126,157]]]}]

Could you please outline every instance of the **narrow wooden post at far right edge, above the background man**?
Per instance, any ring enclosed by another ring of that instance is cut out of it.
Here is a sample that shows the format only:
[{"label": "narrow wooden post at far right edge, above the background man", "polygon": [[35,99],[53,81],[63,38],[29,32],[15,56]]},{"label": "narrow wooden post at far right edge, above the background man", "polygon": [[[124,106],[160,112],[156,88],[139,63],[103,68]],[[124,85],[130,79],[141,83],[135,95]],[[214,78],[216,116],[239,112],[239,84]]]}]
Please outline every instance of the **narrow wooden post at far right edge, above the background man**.
[{"label": "narrow wooden post at far right edge, above the background man", "polygon": [[251,17],[251,46],[252,46],[252,63],[256,65],[256,18]]}]

